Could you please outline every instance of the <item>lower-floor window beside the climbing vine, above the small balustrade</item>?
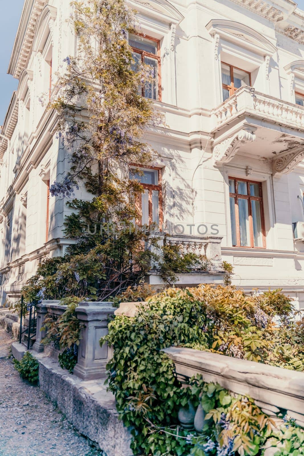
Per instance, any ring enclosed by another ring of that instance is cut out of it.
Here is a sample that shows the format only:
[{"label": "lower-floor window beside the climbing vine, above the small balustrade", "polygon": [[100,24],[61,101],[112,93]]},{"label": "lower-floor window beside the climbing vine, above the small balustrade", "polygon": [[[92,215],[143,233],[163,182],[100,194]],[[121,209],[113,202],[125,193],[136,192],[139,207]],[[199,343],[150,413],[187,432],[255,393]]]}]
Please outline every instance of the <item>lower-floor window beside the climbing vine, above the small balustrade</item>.
[{"label": "lower-floor window beside the climbing vine, above the small balustrade", "polygon": [[136,208],[140,214],[140,225],[156,223],[161,230],[163,224],[163,197],[161,185],[161,168],[147,166],[140,169],[130,169],[129,178],[136,179],[142,185],[144,191],[136,199]]}]

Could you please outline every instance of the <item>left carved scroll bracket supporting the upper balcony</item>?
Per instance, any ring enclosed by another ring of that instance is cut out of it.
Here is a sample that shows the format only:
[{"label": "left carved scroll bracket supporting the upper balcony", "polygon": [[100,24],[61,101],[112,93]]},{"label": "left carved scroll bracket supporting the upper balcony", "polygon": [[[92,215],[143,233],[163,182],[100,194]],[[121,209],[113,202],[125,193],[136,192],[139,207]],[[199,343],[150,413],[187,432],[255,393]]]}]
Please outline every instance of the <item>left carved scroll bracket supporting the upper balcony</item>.
[{"label": "left carved scroll bracket supporting the upper balcony", "polygon": [[246,142],[253,142],[256,138],[254,131],[254,129],[243,129],[236,135],[223,140],[220,144],[217,144],[213,149],[213,157],[216,165],[228,163],[237,154],[242,144]]}]

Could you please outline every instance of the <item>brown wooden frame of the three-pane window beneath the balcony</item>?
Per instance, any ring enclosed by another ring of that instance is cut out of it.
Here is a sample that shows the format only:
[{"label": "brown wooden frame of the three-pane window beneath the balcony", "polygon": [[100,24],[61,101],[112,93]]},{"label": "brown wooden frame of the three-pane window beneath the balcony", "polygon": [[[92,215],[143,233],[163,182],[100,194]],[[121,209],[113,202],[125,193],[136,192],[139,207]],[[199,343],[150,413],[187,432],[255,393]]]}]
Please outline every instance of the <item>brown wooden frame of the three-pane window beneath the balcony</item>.
[{"label": "brown wooden frame of the three-pane window beneath the balcony", "polygon": [[[234,181],[235,185],[235,193],[229,192],[229,198],[234,198],[235,204],[235,223],[236,223],[236,235],[237,235],[237,244],[233,245],[233,247],[241,247],[244,249],[252,248],[252,249],[266,249],[266,230],[265,230],[265,217],[264,217],[264,205],[263,205],[263,189],[262,189],[262,182],[252,181],[248,179],[241,179],[239,177],[232,177],[228,176],[228,179]],[[247,195],[241,195],[238,193],[237,188],[237,181],[247,182]],[[250,184],[258,184],[260,197],[253,197],[250,195]],[[241,245],[241,236],[240,236],[240,224],[239,224],[239,212],[238,212],[238,200],[247,199],[248,202],[248,222],[249,222],[249,236],[250,236],[250,244],[251,245]],[[263,247],[255,247],[254,246],[254,238],[253,238],[253,223],[252,223],[252,201],[259,201],[261,203],[261,224],[262,224],[262,238],[263,238]]]}]

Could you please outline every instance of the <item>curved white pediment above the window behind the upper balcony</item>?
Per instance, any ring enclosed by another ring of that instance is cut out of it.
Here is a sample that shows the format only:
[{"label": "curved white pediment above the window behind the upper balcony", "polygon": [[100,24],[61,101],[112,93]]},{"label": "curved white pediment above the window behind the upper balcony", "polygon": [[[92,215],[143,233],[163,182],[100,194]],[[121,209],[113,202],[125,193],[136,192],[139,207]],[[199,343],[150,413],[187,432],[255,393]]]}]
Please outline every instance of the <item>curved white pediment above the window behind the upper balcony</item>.
[{"label": "curved white pediment above the window behind the upper balcony", "polygon": [[277,48],[263,35],[239,22],[212,19],[206,25],[211,36],[236,44],[260,56],[272,56]]}]

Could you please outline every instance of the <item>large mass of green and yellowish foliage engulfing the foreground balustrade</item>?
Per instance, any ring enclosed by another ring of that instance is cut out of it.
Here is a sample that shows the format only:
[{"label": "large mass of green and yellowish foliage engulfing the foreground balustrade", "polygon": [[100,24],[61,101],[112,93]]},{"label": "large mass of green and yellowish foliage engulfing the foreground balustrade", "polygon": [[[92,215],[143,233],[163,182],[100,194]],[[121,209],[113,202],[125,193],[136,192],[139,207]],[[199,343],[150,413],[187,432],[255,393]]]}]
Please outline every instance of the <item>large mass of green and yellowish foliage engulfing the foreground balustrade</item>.
[{"label": "large mass of green and yellowish foliage engulfing the foreground balustrade", "polygon": [[[114,348],[113,359],[108,363],[108,384],[116,396],[120,417],[126,426],[133,428],[134,454],[188,456],[190,451],[195,456],[262,454],[261,445],[269,436],[268,417],[266,425],[261,425],[258,420],[262,412],[252,401],[243,404],[242,398],[232,398],[219,387],[211,391],[202,382],[181,389],[173,361],[160,350],[171,345],[192,347],[303,371],[304,322],[294,321],[293,312],[289,298],[280,290],[246,296],[242,290],[230,286],[214,289],[201,285],[185,290],[169,288],[153,296],[148,306],[139,308],[136,316],[116,316],[101,344],[106,340]],[[188,401],[196,406],[201,393],[206,413],[212,414],[208,417],[208,429],[210,432],[213,429],[213,434],[206,430],[202,440],[194,436],[195,440],[178,427],[177,415]],[[233,408],[235,400],[240,401],[237,407],[242,406],[247,416],[246,432],[240,428],[237,414],[232,414],[237,408]],[[228,410],[230,405],[232,409]],[[222,413],[231,422],[234,420],[233,445],[228,442],[227,433],[218,432],[221,428],[217,418]],[[237,435],[241,437],[237,439]],[[207,437],[213,439],[213,450],[209,453],[202,449]],[[233,450],[235,445],[239,446]]]}]

